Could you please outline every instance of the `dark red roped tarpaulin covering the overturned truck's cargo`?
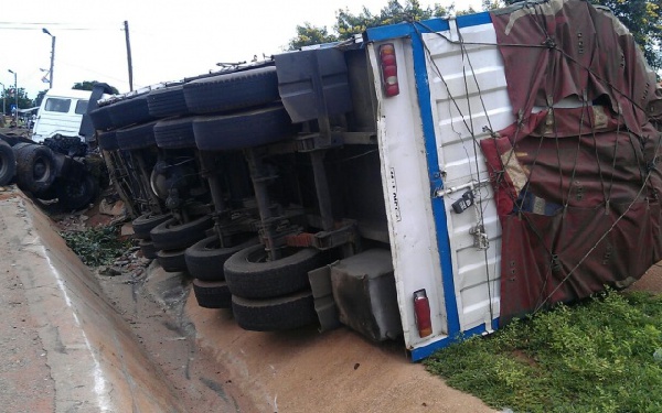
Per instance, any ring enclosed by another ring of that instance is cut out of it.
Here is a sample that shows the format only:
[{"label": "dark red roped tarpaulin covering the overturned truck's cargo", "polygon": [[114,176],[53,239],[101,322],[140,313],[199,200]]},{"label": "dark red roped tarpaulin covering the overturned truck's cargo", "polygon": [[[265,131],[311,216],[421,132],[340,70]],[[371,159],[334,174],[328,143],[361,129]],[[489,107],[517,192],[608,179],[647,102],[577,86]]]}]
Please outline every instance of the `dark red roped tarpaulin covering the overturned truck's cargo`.
[{"label": "dark red roped tarpaulin covering the overturned truck's cargo", "polygon": [[[502,226],[503,324],[606,286],[626,287],[662,259],[662,95],[632,35],[607,10],[552,0],[491,18],[496,44],[482,44],[503,57],[516,121],[494,131],[488,117],[491,137],[472,138]],[[465,47],[481,43],[437,34],[460,45],[466,76],[478,84]]]}]

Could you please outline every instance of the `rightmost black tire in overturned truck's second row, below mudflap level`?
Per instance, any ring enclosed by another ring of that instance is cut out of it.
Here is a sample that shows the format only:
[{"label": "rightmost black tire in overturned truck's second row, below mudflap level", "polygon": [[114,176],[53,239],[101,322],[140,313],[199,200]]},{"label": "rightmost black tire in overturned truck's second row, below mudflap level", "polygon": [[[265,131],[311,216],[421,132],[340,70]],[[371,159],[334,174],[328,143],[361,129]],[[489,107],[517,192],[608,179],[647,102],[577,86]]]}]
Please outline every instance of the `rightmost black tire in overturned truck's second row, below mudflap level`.
[{"label": "rightmost black tire in overturned truck's second row, below mudflap level", "polygon": [[197,117],[193,121],[195,144],[203,151],[244,149],[278,142],[293,135],[282,105],[239,113]]}]

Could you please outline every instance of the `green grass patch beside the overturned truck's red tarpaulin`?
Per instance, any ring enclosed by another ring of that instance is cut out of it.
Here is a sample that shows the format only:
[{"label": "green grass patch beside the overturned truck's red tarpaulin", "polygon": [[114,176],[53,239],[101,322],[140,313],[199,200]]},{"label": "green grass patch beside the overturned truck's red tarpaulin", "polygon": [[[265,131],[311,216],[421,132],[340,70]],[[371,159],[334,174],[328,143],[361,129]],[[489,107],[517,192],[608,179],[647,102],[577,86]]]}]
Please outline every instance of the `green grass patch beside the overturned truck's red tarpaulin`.
[{"label": "green grass patch beside the overturned truck's red tarpaulin", "polygon": [[428,371],[514,412],[662,412],[662,297],[608,291],[437,351]]}]

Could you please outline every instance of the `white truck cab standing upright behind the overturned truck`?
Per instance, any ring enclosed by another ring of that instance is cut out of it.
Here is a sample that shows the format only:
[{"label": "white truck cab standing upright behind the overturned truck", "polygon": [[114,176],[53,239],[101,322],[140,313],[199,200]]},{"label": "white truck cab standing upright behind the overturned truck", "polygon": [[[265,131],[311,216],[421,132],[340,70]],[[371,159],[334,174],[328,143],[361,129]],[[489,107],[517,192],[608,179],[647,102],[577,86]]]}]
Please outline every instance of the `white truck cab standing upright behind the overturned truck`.
[{"label": "white truck cab standing upright behind the overturned truck", "polygon": [[90,95],[92,90],[49,90],[39,108],[32,140],[43,142],[56,134],[78,137]]}]

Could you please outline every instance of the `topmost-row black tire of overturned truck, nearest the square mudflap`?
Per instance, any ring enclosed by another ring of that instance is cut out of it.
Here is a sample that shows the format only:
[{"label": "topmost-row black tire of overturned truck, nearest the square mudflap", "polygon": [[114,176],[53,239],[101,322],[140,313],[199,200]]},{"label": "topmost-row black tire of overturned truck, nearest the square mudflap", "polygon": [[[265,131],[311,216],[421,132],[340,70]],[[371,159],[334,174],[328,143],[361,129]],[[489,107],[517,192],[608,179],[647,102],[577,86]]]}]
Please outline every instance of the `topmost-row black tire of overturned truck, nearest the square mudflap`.
[{"label": "topmost-row black tire of overturned truck, nearest the square mudflap", "polygon": [[276,67],[205,77],[184,85],[191,113],[213,113],[261,106],[280,98]]}]

